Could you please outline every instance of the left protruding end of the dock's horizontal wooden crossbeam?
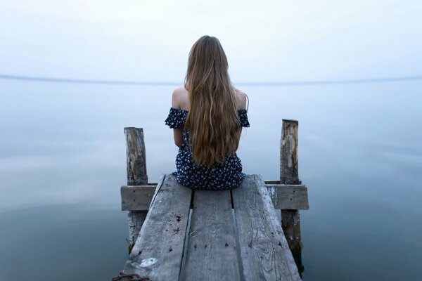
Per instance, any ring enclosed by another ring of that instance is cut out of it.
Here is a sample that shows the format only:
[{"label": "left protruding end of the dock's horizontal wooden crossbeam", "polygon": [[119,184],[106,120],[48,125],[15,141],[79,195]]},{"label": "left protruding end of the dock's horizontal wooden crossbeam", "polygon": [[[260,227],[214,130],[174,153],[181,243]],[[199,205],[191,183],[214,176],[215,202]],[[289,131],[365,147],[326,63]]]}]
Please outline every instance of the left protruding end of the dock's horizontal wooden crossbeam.
[{"label": "left protruding end of the dock's horizontal wooden crossbeam", "polygon": [[120,188],[122,211],[148,210],[157,185],[123,185]]}]

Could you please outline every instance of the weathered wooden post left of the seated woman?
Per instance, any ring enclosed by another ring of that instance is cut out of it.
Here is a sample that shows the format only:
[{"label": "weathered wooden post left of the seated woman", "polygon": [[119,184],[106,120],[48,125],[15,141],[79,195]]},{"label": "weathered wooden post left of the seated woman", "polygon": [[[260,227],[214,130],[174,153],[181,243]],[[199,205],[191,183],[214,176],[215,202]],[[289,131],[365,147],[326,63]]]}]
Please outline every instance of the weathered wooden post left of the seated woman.
[{"label": "weathered wooden post left of the seated woman", "polygon": [[[126,136],[127,185],[146,185],[148,176],[146,175],[143,129],[124,128],[124,135]],[[136,242],[147,213],[148,211],[129,211],[127,215],[129,223],[129,252]]]}]

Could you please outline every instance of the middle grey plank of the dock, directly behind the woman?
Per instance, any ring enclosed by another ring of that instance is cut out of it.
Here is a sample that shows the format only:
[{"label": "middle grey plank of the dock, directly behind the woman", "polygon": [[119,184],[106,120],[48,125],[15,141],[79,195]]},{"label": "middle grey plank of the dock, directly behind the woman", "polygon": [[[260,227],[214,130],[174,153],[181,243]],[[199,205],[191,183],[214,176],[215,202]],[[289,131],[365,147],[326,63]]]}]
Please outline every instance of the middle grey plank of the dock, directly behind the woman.
[{"label": "middle grey plank of the dock, directly behind the woman", "polygon": [[196,190],[184,280],[240,280],[230,190]]}]

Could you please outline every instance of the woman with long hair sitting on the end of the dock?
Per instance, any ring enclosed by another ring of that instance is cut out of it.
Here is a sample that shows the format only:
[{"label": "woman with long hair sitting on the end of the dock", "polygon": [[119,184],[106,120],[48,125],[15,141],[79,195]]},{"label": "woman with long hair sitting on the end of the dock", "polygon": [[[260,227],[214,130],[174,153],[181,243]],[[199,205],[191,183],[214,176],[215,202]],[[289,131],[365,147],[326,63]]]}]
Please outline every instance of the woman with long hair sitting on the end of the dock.
[{"label": "woman with long hair sitting on the end of the dock", "polygon": [[248,127],[245,93],[231,85],[226,54],[215,37],[193,44],[184,87],[175,89],[165,124],[179,147],[177,181],[192,189],[228,190],[245,174],[236,155]]}]

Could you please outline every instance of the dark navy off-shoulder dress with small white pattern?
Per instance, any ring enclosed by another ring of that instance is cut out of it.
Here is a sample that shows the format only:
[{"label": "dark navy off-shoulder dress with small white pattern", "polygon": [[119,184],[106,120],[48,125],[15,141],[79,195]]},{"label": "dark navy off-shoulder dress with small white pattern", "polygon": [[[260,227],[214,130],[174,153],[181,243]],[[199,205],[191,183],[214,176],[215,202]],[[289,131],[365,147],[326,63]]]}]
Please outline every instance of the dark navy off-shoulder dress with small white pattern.
[{"label": "dark navy off-shoulder dress with small white pattern", "polygon": [[[187,110],[170,108],[165,124],[172,129],[183,128],[188,116]],[[241,126],[248,127],[246,110],[238,110]],[[176,157],[176,168],[173,174],[177,182],[194,190],[230,190],[237,188],[245,174],[242,173],[242,163],[236,153],[226,157],[223,164],[207,167],[193,162],[190,145],[188,145],[188,131],[183,131],[183,144]]]}]

